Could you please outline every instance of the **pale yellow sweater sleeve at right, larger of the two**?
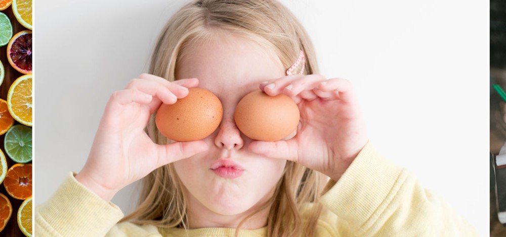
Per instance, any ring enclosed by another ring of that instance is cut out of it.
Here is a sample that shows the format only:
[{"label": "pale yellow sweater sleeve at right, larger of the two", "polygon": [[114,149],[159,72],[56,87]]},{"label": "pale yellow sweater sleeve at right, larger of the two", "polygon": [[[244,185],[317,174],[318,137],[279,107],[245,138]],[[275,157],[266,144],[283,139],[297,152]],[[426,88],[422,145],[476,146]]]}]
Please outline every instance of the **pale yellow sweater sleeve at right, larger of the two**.
[{"label": "pale yellow sweater sleeve at right, larger of the two", "polygon": [[341,179],[327,187],[321,203],[357,236],[479,236],[441,197],[421,187],[370,143]]}]

